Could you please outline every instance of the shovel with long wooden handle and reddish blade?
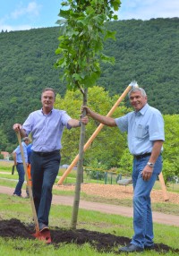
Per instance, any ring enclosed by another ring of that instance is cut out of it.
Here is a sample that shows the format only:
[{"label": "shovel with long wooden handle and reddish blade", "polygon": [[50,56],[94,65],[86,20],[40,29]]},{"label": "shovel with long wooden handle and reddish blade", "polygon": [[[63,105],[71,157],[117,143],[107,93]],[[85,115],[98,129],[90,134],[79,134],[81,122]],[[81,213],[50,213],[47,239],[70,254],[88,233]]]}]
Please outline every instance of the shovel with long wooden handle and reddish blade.
[{"label": "shovel with long wooden handle and reddish blade", "polygon": [[22,158],[22,161],[23,161],[23,167],[24,167],[24,170],[25,170],[26,181],[27,181],[28,190],[29,190],[29,193],[30,193],[30,204],[31,204],[33,219],[34,219],[34,223],[35,223],[35,229],[36,229],[36,232],[33,233],[32,235],[34,237],[36,237],[38,240],[45,241],[46,243],[51,243],[50,231],[49,230],[44,230],[44,231],[41,231],[41,232],[39,231],[38,217],[37,217],[37,213],[36,213],[36,209],[35,209],[35,204],[34,204],[34,200],[33,200],[33,196],[32,196],[30,179],[29,179],[29,175],[28,175],[28,171],[27,171],[27,166],[26,166],[26,163],[25,163],[25,158],[24,158],[24,154],[23,154],[23,148],[22,148],[22,145],[21,145],[20,131],[17,132],[17,138],[18,138],[18,142],[19,142],[19,145],[20,145],[20,149],[21,149],[21,158]]}]

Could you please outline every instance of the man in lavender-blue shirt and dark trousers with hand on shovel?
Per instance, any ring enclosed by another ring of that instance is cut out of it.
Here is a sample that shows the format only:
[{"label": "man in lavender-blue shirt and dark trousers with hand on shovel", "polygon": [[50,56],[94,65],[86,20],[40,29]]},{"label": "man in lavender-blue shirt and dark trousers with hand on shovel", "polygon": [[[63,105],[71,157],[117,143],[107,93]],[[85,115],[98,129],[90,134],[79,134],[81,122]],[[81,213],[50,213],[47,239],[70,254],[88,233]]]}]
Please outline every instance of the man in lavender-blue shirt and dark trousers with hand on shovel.
[{"label": "man in lavender-blue shirt and dark trousers with hand on shovel", "polygon": [[52,202],[52,188],[60,166],[61,139],[64,127],[78,128],[88,123],[88,116],[81,121],[72,119],[64,110],[54,108],[55,90],[46,88],[41,94],[42,108],[32,112],[25,123],[13,124],[21,137],[32,136],[31,176],[32,192],[38,216],[39,230],[48,230],[48,216]]}]

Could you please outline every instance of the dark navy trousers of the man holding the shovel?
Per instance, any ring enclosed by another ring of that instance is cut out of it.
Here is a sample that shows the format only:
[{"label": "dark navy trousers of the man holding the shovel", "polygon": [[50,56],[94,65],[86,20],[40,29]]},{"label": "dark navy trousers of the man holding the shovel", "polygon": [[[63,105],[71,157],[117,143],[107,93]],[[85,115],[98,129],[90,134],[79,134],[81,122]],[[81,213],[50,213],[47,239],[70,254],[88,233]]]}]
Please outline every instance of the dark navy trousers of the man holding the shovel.
[{"label": "dark navy trousers of the man holding the shovel", "polygon": [[59,171],[60,158],[59,151],[46,157],[31,152],[32,193],[39,225],[48,225],[52,188]]}]

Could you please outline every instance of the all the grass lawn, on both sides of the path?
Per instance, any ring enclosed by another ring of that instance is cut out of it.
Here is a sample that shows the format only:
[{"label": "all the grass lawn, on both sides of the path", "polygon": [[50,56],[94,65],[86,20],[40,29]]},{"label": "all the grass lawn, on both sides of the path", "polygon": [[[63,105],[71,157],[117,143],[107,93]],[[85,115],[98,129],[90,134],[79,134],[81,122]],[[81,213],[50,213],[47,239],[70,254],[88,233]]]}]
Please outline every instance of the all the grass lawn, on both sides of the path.
[{"label": "all the grass lawn, on both sides of the path", "polygon": [[[11,179],[18,179],[17,173],[11,175],[11,168],[13,164],[0,162],[0,185],[14,187],[16,181],[10,181]],[[2,174],[3,172],[3,174]],[[60,173],[62,175],[62,173]],[[72,173],[72,180],[74,179],[74,173]],[[69,177],[70,179],[70,177]],[[23,185],[25,189],[25,184]],[[155,189],[160,189],[158,183],[155,185]],[[171,188],[178,192],[178,186]],[[172,191],[173,192],[173,191]],[[72,195],[73,192],[62,192],[55,191],[55,194]],[[81,193],[81,199],[89,201],[99,201],[106,203],[116,203],[125,206],[132,206],[132,201],[113,201],[105,200],[104,198],[93,197],[85,193]],[[167,207],[166,207],[167,206]],[[153,204],[152,208],[159,209],[162,212],[175,214],[178,211],[178,205],[171,204]],[[23,223],[32,222],[32,213],[30,208],[30,201],[14,198],[12,196],[0,194],[0,221],[4,219],[17,218]],[[49,226],[53,229],[55,226],[62,227],[65,229],[70,228],[72,218],[72,207],[63,205],[52,205],[49,218]],[[86,229],[89,231],[98,231],[104,234],[111,234],[116,236],[132,237],[132,218],[125,218],[118,215],[110,215],[100,213],[97,211],[79,209],[78,215],[78,229]],[[1,232],[1,231],[0,231]],[[1,233],[0,233],[1,234]],[[154,224],[155,243],[163,243],[174,249],[179,249],[178,237],[179,229],[177,226],[166,226],[160,224]],[[117,244],[116,253],[117,253]],[[27,240],[27,239],[13,239],[4,238],[0,236],[0,255],[5,256],[16,256],[16,255],[50,255],[50,256],[115,256],[114,252],[98,252],[96,249],[91,247],[89,243],[81,245],[75,243],[60,243],[47,245],[38,240]],[[126,255],[120,253],[120,255]],[[141,253],[135,253],[133,255],[141,255]],[[142,255],[158,255],[158,252],[142,252]],[[159,255],[178,255],[175,252],[160,252]]]}]

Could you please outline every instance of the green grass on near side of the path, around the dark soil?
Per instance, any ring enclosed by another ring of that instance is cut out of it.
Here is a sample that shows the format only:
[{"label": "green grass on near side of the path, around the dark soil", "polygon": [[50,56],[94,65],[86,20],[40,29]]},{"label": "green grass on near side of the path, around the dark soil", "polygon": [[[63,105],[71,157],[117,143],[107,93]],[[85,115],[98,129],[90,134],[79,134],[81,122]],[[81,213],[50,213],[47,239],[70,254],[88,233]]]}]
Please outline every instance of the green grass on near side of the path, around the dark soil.
[{"label": "green grass on near side of the path, around the dark soil", "polygon": [[[21,222],[32,222],[30,201],[21,198],[0,194],[0,219],[18,218]],[[72,217],[72,207],[63,205],[52,205],[49,217],[49,226],[69,228]],[[132,218],[126,218],[114,214],[105,214],[98,211],[79,209],[77,229],[98,231],[117,236],[132,237]],[[178,249],[178,227],[154,224],[155,243],[163,243],[174,249]],[[97,252],[90,244],[81,246],[76,244],[52,244],[46,245],[38,240],[7,239],[0,237],[1,255],[103,255],[115,256],[114,253]],[[151,255],[151,252],[142,252],[142,255]],[[125,255],[125,254],[120,254]],[[138,255],[137,253],[135,255]],[[140,255],[140,254],[139,254]],[[152,252],[152,255],[158,255],[158,252]],[[160,253],[160,255],[176,255],[172,252]]]}]

